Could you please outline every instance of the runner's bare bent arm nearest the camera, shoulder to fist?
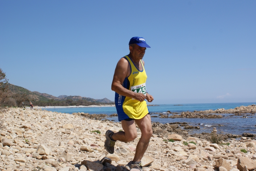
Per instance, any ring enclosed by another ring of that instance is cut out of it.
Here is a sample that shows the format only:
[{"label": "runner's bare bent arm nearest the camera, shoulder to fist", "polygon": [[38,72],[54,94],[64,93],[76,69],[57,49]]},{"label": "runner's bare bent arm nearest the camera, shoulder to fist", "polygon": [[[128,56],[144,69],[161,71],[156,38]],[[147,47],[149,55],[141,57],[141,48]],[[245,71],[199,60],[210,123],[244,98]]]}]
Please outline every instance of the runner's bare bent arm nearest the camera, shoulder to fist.
[{"label": "runner's bare bent arm nearest the camera, shoulder to fist", "polygon": [[122,96],[132,97],[132,98],[142,102],[146,98],[146,96],[144,94],[135,93],[131,90],[125,89],[122,86],[124,79],[127,76],[128,71],[130,71],[130,67],[128,67],[128,66],[129,66],[129,63],[125,58],[121,58],[118,61],[117,65],[116,65],[111,89]]}]

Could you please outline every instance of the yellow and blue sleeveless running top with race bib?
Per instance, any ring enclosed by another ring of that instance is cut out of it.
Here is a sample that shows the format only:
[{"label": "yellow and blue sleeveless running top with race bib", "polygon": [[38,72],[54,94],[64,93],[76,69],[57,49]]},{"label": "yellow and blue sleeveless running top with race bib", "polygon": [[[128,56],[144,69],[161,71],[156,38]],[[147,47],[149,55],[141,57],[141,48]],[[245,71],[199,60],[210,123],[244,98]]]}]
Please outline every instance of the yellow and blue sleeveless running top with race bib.
[{"label": "yellow and blue sleeveless running top with race bib", "polygon": [[[124,79],[123,87],[146,95],[147,74],[142,60],[140,60],[142,71],[140,71],[128,55],[123,58],[129,62],[131,68],[131,74]],[[132,97],[121,96],[118,93],[115,95],[115,105],[119,121],[128,118],[141,119],[149,113],[145,100],[140,102]]]}]

